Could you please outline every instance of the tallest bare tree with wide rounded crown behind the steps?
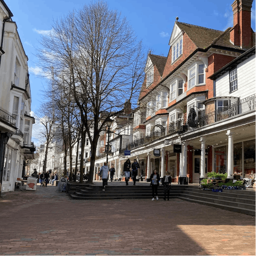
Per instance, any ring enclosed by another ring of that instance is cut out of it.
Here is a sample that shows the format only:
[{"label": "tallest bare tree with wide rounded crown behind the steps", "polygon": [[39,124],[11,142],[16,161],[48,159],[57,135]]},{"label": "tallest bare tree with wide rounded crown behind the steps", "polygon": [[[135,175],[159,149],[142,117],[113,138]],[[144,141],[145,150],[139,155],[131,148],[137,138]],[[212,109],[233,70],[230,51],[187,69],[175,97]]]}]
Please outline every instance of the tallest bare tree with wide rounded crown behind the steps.
[{"label": "tallest bare tree with wide rounded crown behind the steps", "polygon": [[[45,72],[53,66],[54,77],[67,80],[79,109],[82,155],[89,135],[92,182],[100,131],[126,99],[137,103],[146,57],[142,44],[121,13],[96,2],[55,21],[41,45],[38,57]],[[82,182],[82,164],[80,173]]]}]

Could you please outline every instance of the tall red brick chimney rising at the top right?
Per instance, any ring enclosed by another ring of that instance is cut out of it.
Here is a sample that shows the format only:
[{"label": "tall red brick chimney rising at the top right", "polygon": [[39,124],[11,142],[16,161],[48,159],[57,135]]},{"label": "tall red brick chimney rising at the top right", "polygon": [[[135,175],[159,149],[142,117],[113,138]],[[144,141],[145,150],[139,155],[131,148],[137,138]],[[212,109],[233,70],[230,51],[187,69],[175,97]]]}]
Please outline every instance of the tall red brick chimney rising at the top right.
[{"label": "tall red brick chimney rising at the top right", "polygon": [[230,30],[230,41],[242,49],[250,49],[253,45],[251,29],[251,8],[253,0],[235,0],[233,8],[234,27]]}]

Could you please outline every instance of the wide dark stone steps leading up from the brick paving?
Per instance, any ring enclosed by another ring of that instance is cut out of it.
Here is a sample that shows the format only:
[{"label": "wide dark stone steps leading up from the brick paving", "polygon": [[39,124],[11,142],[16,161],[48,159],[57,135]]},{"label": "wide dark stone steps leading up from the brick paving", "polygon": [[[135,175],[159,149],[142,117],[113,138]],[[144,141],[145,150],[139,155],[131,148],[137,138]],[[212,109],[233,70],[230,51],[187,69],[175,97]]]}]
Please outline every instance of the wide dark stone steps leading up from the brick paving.
[{"label": "wide dark stone steps leading up from the brick paving", "polygon": [[[106,186],[102,191],[100,186],[84,185],[76,186],[69,191],[73,199],[101,200],[101,199],[150,199],[150,186]],[[158,187],[158,197],[163,199],[164,190]],[[212,192],[201,190],[195,186],[172,185],[170,199],[180,198],[189,202],[218,207],[223,210],[240,212],[248,215],[256,215],[255,191],[248,190],[223,190]]]}]

